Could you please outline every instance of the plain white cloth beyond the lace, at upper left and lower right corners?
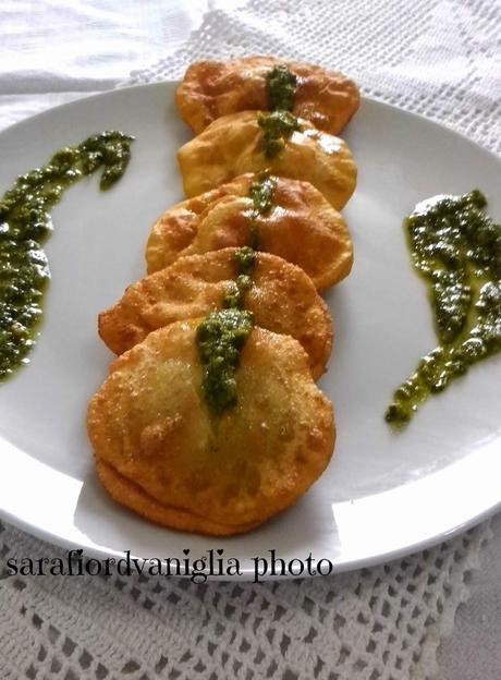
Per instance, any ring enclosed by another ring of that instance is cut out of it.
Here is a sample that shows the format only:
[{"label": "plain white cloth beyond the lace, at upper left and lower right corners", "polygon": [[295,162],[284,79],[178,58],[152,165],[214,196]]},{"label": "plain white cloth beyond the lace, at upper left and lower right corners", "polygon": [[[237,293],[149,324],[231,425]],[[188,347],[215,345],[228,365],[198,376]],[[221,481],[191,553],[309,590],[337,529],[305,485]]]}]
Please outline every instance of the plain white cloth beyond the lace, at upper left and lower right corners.
[{"label": "plain white cloth beyond the lace, at upper left and lower right corners", "polygon": [[[42,109],[114,87],[181,46],[209,0],[0,2],[0,129]],[[444,680],[498,680],[501,669],[501,515],[439,652]]]}]

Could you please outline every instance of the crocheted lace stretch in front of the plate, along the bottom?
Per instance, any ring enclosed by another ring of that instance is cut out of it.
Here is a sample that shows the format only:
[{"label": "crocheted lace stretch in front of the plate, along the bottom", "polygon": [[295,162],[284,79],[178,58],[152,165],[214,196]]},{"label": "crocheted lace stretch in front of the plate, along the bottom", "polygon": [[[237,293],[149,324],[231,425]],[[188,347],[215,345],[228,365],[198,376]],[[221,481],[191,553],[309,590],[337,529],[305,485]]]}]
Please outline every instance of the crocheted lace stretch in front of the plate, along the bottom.
[{"label": "crocheted lace stretch in front of the plate, along the bottom", "polygon": [[[1,527],[11,557],[63,557]],[[436,669],[487,524],[413,557],[325,579],[250,583],[146,576],[0,581],[4,680],[402,680]]]}]

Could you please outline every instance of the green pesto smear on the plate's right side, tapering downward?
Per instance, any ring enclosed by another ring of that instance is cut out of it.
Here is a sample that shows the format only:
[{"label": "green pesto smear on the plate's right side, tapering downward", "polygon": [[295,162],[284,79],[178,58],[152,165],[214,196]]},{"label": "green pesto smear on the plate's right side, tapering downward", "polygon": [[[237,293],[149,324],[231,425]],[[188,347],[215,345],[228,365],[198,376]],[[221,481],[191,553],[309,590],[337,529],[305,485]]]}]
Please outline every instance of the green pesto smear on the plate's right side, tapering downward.
[{"label": "green pesto smear on the plate's right side, tapering downward", "polygon": [[404,221],[413,265],[428,284],[439,347],[394,392],[386,420],[407,423],[430,394],[501,350],[501,224],[478,190],[437,196]]}]

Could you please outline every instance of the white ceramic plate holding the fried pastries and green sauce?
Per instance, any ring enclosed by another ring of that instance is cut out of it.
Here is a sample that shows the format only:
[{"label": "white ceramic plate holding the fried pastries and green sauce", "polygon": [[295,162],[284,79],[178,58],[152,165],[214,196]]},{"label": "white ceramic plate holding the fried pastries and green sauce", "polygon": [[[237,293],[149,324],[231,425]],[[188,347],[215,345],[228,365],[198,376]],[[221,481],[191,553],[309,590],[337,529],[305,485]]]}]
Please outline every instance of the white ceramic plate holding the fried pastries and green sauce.
[{"label": "white ceramic plate holding the fried pastries and green sauce", "polygon": [[190,135],[174,85],[113,92],[52,109],[0,135],[0,190],[62,145],[121,129],[136,135],[119,184],[97,179],[53,210],[46,250],[52,282],[28,366],[0,385],[0,507],[21,527],[96,556],[191,558],[222,548],[240,560],[274,549],[352,569],[411,552],[479,521],[501,503],[501,357],[475,366],[393,434],[383,412],[393,389],[436,345],[426,290],[411,267],[402,218],[420,199],[476,186],[501,219],[501,162],[427,120],[371,100],[346,130],[359,169],[344,214],[355,264],[327,295],[335,345],[321,387],[338,424],[335,457],[292,509],[247,535],[210,539],[171,532],[112,502],[93,470],[86,404],[112,359],[99,311],[144,275],[149,227],[182,197],[175,151]]}]

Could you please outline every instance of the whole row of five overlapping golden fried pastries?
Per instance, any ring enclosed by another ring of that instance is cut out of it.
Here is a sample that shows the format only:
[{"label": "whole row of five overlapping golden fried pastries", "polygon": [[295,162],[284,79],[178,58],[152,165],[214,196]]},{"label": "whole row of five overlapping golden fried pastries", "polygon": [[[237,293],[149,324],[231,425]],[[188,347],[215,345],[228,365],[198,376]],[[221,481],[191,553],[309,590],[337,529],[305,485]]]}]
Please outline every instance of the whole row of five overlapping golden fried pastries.
[{"label": "whole row of five overlapping golden fried pastries", "polygon": [[[338,210],[356,167],[332,133],[355,112],[358,93],[339,73],[280,65],[294,74],[292,113],[301,118],[270,158],[258,117],[276,66],[248,58],[187,70],[176,102],[199,133],[178,154],[187,199],[154,224],[148,276],[99,315],[100,337],[120,355],[88,409],[99,477],[125,507],[179,530],[230,535],[257,526],[304,494],[333,450],[332,405],[314,381],[332,345],[317,291],[352,266]],[[265,181],[268,202],[256,209]],[[236,403],[216,417],[200,389],[197,328],[224,306],[236,255],[256,228],[259,250],[243,292],[254,327],[240,352]]]}]

